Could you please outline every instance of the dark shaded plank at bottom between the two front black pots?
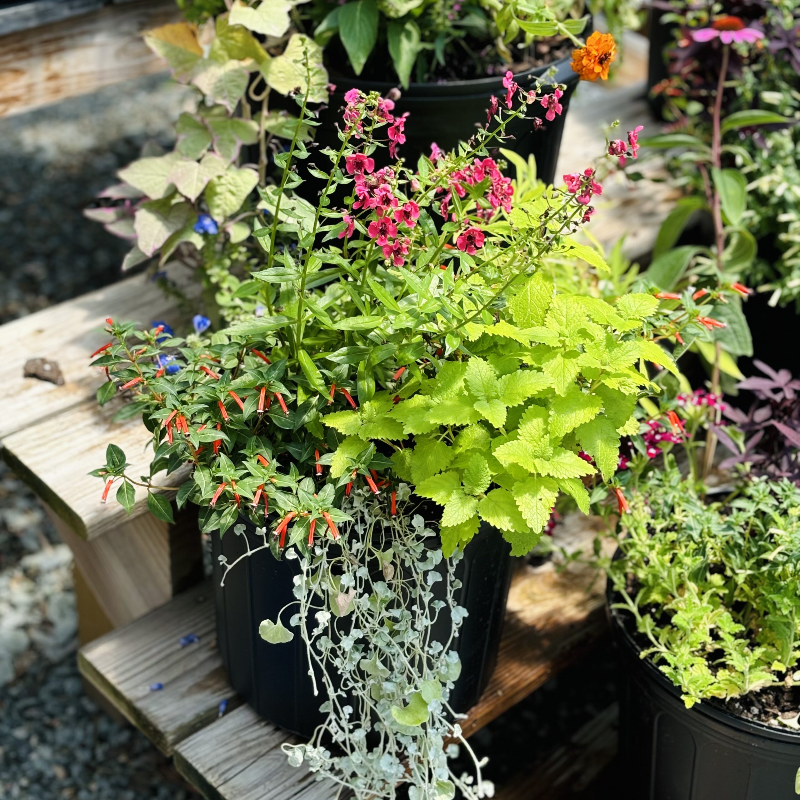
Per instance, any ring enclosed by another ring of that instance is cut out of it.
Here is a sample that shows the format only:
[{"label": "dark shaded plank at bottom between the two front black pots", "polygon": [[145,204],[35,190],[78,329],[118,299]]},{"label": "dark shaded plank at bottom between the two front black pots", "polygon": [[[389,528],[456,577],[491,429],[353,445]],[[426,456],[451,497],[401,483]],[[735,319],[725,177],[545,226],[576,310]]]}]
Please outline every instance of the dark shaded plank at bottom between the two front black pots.
[{"label": "dark shaded plank at bottom between the two front black pots", "polygon": [[569,742],[499,787],[495,800],[596,800],[592,783],[617,753],[618,718],[619,707],[614,703],[586,722]]}]

